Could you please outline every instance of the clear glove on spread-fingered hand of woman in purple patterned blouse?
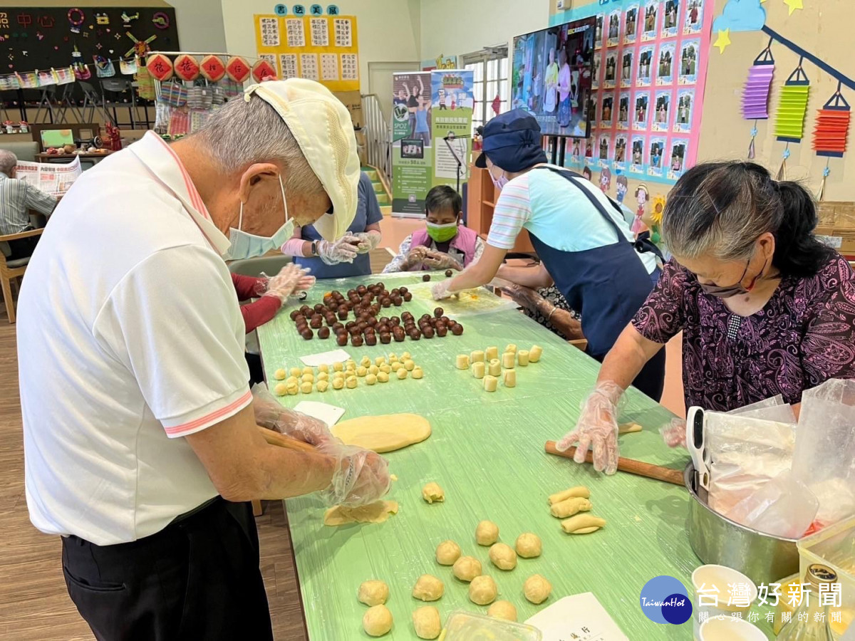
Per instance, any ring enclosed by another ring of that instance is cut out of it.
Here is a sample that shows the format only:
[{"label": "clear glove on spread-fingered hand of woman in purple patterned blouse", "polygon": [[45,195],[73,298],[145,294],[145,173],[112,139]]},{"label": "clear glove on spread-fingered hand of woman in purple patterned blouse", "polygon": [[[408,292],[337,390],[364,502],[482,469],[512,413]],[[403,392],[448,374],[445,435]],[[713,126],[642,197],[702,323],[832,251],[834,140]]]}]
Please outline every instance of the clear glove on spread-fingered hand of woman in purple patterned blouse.
[{"label": "clear glove on spread-fingered hand of woman in purple patterned blouse", "polygon": [[576,444],[573,460],[585,462],[588,447],[593,453],[593,468],[598,472],[613,474],[617,471],[617,403],[623,389],[607,380],[598,383],[582,404],[581,415],[575,429],[564,435],[556,444],[559,452],[569,450]]}]

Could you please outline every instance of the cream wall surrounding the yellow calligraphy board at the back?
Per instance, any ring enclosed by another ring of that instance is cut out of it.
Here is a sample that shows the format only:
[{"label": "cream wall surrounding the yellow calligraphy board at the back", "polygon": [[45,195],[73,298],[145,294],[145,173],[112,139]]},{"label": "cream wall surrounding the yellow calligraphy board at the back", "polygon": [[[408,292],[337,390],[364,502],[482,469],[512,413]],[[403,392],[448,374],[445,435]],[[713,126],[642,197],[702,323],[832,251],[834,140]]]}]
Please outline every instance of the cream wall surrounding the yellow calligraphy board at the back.
[{"label": "cream wall surrounding the yellow calligraphy board at the back", "polygon": [[[274,0],[221,2],[228,53],[255,57],[256,35],[252,16],[272,14]],[[309,3],[305,4],[308,6]],[[417,62],[422,59],[419,0],[341,0],[337,4],[342,15],[357,16],[363,92],[368,91],[369,62]]]}]

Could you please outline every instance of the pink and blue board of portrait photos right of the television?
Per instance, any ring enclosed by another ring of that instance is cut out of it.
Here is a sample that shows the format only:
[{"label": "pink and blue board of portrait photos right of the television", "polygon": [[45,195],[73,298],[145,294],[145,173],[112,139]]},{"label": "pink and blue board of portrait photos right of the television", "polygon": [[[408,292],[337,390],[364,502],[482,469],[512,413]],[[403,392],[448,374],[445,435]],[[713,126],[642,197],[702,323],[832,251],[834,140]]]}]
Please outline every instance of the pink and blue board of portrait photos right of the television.
[{"label": "pink and blue board of portrait photos right of the television", "polygon": [[591,135],[564,139],[564,164],[673,184],[698,153],[713,2],[613,0],[595,9],[604,10],[595,15]]}]

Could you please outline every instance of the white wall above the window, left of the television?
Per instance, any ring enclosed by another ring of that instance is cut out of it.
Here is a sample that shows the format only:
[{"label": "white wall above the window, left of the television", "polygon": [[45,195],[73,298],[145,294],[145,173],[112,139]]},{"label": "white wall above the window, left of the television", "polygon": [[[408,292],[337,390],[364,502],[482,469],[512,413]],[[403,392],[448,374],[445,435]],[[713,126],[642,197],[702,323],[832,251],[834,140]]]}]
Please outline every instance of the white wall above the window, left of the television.
[{"label": "white wall above the window, left of the television", "polygon": [[550,0],[422,0],[422,56],[454,56],[506,44],[549,26]]}]

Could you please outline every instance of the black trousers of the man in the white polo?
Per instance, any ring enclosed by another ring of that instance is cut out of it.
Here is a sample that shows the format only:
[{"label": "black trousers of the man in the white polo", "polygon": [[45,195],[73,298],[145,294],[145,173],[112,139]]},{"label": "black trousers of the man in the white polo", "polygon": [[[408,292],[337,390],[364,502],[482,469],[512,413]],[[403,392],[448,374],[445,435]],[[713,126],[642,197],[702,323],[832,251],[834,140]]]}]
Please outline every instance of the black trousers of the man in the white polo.
[{"label": "black trousers of the man in the white polo", "polygon": [[133,543],[62,538],[68,594],[98,641],[273,639],[250,503],[216,498]]}]

